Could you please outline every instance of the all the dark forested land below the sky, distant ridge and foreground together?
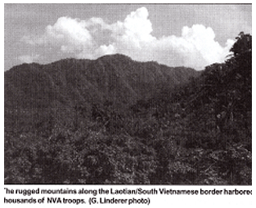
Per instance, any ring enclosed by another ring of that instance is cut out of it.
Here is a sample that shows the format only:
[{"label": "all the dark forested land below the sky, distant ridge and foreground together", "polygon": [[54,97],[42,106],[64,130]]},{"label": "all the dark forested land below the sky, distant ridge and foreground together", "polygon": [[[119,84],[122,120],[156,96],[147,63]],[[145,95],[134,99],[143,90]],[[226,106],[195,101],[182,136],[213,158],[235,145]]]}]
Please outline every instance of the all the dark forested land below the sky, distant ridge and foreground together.
[{"label": "all the dark forested land below the sky, distant ridge and foreground together", "polygon": [[5,73],[5,184],[251,184],[252,37],[199,73],[124,55]]}]

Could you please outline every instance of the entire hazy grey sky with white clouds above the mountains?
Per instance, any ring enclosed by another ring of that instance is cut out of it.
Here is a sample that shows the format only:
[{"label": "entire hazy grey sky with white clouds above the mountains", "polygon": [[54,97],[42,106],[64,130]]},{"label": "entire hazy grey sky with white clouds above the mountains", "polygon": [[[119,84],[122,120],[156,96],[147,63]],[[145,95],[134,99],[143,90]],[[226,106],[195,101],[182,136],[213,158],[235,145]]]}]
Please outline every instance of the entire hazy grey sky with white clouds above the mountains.
[{"label": "entire hazy grey sky with white clouds above the mountains", "polygon": [[115,53],[204,69],[252,33],[249,4],[5,4],[4,17],[5,70]]}]

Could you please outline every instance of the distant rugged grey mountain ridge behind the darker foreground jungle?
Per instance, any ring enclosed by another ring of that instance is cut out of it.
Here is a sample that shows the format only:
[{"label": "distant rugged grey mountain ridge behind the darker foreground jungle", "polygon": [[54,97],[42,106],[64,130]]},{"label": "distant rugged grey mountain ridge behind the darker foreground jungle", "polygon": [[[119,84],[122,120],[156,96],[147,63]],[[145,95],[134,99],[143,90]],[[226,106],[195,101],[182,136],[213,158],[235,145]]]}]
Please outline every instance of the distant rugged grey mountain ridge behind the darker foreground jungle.
[{"label": "distant rugged grey mountain ridge behind the darker foreground jungle", "polygon": [[149,98],[159,83],[174,86],[199,73],[156,62],[137,62],[125,55],[97,60],[60,60],[52,64],[21,64],[5,73],[7,108],[45,108],[54,104],[110,100],[133,104]]}]

